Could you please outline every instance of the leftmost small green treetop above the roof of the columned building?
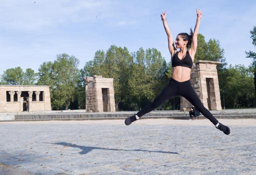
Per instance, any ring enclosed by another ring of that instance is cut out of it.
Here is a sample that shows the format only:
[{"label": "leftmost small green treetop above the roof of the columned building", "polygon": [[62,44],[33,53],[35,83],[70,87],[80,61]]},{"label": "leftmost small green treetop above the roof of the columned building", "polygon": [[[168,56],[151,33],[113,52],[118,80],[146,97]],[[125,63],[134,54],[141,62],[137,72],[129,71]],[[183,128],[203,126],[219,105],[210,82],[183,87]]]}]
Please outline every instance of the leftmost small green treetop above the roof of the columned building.
[{"label": "leftmost small green treetop above the roof of the columned building", "polygon": [[10,68],[4,71],[4,74],[1,78],[3,84],[23,85],[24,72],[21,67]]}]

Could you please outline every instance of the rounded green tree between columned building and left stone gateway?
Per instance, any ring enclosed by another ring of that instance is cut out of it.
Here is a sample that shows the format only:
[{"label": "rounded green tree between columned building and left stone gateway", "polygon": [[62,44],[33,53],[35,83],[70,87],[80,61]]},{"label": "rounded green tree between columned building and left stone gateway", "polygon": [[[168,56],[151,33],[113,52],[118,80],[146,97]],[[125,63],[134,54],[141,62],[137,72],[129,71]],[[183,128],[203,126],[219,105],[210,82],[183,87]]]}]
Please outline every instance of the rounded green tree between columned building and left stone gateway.
[{"label": "rounded green tree between columned building and left stone gateway", "polygon": [[79,81],[79,60],[68,54],[57,55],[52,62],[45,62],[39,68],[39,85],[49,85],[53,109],[68,109],[74,101]]}]

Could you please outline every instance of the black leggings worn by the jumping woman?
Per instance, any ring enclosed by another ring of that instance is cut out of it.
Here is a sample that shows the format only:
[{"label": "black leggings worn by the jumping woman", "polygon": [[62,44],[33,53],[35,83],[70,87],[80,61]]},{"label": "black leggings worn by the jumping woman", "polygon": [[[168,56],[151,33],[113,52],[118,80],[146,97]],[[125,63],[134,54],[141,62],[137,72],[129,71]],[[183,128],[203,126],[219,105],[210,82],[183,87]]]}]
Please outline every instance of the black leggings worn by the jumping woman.
[{"label": "black leggings worn by the jumping woman", "polygon": [[155,100],[145,106],[141,111],[137,113],[139,117],[149,113],[153,109],[157,108],[163,104],[166,100],[172,98],[173,96],[181,95],[185,97],[192,105],[196,107],[206,118],[208,118],[214,125],[218,123],[218,120],[207,110],[195,90],[191,86],[190,80],[184,82],[178,82],[174,79],[169,81],[168,86],[155,98]]}]

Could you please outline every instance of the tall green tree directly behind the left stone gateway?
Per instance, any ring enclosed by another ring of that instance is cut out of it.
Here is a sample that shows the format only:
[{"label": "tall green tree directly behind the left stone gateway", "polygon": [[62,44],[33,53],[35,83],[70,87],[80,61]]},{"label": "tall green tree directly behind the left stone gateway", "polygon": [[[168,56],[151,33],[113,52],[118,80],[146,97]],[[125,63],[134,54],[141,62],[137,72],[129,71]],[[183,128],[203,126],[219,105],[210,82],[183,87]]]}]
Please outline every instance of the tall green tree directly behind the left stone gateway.
[{"label": "tall green tree directly behind the left stone gateway", "polygon": [[94,59],[85,64],[82,72],[86,76],[102,75],[114,79],[114,95],[116,110],[125,106],[129,89],[127,82],[131,74],[133,58],[127,48],[114,45],[104,53],[97,51]]}]

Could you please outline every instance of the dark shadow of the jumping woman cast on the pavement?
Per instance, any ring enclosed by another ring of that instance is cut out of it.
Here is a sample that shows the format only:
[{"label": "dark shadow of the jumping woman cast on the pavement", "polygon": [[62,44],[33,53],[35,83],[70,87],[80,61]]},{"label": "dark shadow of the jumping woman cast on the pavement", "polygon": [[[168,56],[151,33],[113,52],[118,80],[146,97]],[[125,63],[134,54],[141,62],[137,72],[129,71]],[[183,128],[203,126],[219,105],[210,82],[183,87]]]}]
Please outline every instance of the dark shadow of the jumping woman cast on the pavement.
[{"label": "dark shadow of the jumping woman cast on the pavement", "polygon": [[169,152],[169,151],[154,151],[154,150],[144,150],[144,149],[116,149],[116,148],[104,148],[104,147],[94,147],[94,146],[80,146],[72,143],[67,142],[56,142],[51,144],[59,144],[63,146],[75,147],[80,148],[80,154],[87,154],[93,149],[102,149],[102,150],[114,150],[114,151],[144,151],[144,152],[159,152],[159,153],[167,153],[167,154],[179,154],[178,152]]}]

